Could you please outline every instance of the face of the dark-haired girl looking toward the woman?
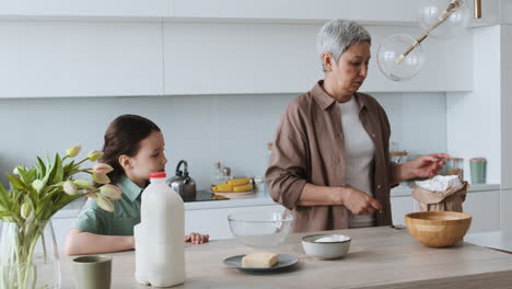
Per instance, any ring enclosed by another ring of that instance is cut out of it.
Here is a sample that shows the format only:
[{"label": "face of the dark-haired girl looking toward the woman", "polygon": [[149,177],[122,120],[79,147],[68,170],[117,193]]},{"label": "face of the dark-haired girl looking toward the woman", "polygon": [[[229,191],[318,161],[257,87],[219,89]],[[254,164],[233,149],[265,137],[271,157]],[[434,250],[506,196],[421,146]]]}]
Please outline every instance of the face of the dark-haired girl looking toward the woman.
[{"label": "face of the dark-haired girl looking toward the woman", "polygon": [[138,186],[144,187],[152,172],[165,171],[164,139],[161,131],[153,131],[140,141],[136,155],[129,157],[126,175]]}]

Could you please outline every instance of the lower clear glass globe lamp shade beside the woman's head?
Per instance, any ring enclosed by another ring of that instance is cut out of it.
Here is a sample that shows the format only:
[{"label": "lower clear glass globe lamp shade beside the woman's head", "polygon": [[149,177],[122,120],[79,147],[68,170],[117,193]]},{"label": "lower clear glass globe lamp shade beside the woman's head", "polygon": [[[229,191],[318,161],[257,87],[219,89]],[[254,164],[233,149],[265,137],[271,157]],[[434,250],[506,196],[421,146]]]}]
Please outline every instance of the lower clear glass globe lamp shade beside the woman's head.
[{"label": "lower clear glass globe lamp shade beside the woman's head", "polygon": [[404,55],[415,45],[409,35],[395,34],[387,37],[379,47],[377,65],[381,72],[393,81],[406,81],[414,78],[424,63],[424,54],[420,44],[409,54]]}]

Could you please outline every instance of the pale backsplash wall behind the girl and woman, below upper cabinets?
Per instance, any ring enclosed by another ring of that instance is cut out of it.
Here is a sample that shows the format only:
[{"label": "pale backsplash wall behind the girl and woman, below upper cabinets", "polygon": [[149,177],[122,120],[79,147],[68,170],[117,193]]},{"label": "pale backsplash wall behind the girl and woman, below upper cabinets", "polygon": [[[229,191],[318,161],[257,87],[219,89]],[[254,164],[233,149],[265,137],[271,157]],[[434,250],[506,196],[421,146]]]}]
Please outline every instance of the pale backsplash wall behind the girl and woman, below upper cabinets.
[{"label": "pale backsplash wall behind the girl and woman, below upper cabinets", "polygon": [[[200,189],[209,187],[213,163],[235,175],[261,175],[266,143],[281,113],[296,95],[186,95],[0,100],[0,182],[36,154],[80,143],[101,149],[110,120],[139,114],[155,122],[165,138],[167,175],[188,161]],[[392,140],[411,154],[446,150],[444,93],[373,93],[387,112]]]}]

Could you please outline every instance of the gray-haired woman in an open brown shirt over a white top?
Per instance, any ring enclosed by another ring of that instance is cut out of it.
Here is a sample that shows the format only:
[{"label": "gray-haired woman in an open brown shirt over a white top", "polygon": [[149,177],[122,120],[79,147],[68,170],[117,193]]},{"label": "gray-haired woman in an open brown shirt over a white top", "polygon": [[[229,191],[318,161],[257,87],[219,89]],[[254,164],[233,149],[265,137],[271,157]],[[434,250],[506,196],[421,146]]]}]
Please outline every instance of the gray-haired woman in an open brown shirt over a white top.
[{"label": "gray-haired woman in an open brown shirt over a white top", "polygon": [[368,31],[354,22],[326,23],[317,36],[324,80],[281,117],[266,182],[272,198],[295,216],[295,232],[391,224],[389,188],[435,175],[449,158],[389,161],[386,113],[358,92],[370,44]]}]

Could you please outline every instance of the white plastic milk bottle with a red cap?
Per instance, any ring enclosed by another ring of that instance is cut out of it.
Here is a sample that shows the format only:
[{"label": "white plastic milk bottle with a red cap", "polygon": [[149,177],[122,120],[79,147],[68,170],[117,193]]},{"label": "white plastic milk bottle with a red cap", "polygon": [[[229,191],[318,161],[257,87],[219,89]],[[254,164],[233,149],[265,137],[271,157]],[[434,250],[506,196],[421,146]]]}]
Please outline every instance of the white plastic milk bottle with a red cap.
[{"label": "white plastic milk bottle with a red cap", "polygon": [[165,172],[151,173],[142,193],[141,221],[133,228],[136,279],[153,287],[185,281],[185,210],[165,177]]}]

